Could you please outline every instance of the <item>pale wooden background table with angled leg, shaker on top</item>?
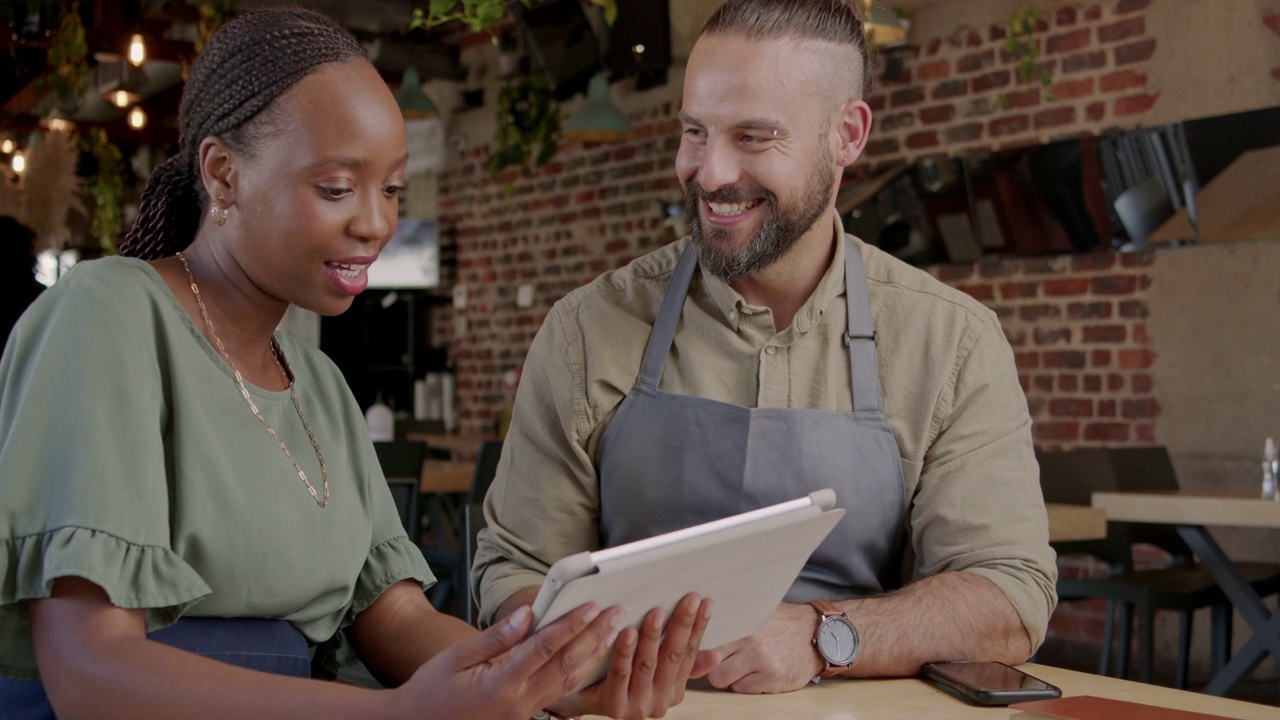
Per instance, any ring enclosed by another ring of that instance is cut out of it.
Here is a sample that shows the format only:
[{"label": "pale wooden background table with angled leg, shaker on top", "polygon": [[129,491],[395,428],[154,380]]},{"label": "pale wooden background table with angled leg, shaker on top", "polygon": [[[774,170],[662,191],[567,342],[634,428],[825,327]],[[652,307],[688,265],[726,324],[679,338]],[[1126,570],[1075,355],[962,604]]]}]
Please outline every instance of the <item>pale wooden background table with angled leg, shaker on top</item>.
[{"label": "pale wooden background table with angled leg, shaker on top", "polygon": [[1253,630],[1249,642],[1210,680],[1204,692],[1225,694],[1267,653],[1280,659],[1280,612],[1272,615],[1204,525],[1280,529],[1280,502],[1251,492],[1096,492],[1093,506],[1111,520],[1175,525],[1228,600]]}]

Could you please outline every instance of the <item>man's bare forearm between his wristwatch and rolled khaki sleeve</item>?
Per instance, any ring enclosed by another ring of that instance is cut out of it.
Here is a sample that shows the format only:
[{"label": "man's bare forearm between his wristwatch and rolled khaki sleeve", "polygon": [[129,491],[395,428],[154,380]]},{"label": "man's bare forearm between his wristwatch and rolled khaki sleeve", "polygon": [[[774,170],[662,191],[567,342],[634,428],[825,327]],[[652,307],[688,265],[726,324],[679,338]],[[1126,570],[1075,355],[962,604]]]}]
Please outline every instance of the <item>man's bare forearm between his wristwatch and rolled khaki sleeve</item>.
[{"label": "man's bare forearm between his wristwatch and rolled khaki sleeve", "polygon": [[861,641],[849,675],[908,676],[938,660],[1021,662],[1030,638],[1009,598],[973,573],[942,573],[879,597],[836,603]]}]

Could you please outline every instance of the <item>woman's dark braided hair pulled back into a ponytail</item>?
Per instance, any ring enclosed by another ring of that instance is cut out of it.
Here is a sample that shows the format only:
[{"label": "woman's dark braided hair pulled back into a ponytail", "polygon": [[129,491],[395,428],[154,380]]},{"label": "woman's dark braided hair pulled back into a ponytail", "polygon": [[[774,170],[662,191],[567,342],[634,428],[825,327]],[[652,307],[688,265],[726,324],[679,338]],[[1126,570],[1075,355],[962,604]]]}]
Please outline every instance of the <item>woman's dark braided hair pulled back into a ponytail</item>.
[{"label": "woman's dark braided hair pulled back into a ponytail", "polygon": [[155,260],[196,238],[207,208],[200,143],[216,136],[252,155],[268,128],[264,111],[293,83],[328,63],[364,58],[356,38],[301,8],[269,8],[219,29],[191,68],[178,109],[178,154],[151,174],[120,255]]}]

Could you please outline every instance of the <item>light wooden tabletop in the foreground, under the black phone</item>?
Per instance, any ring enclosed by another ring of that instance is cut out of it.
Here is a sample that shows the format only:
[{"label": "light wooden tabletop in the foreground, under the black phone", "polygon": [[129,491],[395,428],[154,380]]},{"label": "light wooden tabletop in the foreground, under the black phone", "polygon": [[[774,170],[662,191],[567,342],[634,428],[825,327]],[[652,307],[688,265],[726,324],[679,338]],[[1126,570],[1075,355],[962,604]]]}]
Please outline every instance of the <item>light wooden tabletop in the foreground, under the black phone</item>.
[{"label": "light wooden tabletop in the foreground, under the black phone", "polygon": [[[1062,670],[1047,665],[1021,669],[1062,689],[1064,697],[1097,696],[1192,712],[1239,719],[1280,717],[1280,710],[1234,700]],[[823,680],[801,691],[773,696],[744,696],[721,691],[690,691],[685,702],[666,715],[669,720],[1032,720],[1044,715],[1010,707],[969,705],[932,683],[897,680]]]}]

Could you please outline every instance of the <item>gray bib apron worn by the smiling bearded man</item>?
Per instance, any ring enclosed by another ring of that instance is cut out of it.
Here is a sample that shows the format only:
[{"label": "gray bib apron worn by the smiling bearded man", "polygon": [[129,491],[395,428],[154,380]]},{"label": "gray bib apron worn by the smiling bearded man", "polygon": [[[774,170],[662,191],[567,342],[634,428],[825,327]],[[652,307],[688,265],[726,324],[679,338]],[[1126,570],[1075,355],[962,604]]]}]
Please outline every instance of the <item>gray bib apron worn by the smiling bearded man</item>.
[{"label": "gray bib apron worn by the smiling bearded man", "polygon": [[600,438],[600,533],[616,546],[836,491],[847,514],[805,564],[788,602],[859,597],[901,585],[905,486],[881,406],[867,277],[845,252],[852,413],[742,407],[658,389],[698,266],[676,265],[635,387]]}]

